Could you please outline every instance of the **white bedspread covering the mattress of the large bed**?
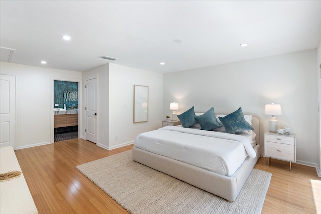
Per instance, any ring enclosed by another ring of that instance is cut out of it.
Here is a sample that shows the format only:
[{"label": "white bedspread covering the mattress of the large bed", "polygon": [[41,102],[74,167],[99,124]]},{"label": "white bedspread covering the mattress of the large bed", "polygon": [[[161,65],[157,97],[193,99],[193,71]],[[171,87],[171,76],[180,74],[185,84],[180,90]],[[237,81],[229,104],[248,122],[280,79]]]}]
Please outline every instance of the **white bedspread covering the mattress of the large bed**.
[{"label": "white bedspread covering the mattress of the large bed", "polygon": [[[251,134],[251,133],[250,133]],[[255,134],[253,132],[253,134]],[[139,134],[135,146],[225,176],[256,153],[246,136],[166,126]]]}]

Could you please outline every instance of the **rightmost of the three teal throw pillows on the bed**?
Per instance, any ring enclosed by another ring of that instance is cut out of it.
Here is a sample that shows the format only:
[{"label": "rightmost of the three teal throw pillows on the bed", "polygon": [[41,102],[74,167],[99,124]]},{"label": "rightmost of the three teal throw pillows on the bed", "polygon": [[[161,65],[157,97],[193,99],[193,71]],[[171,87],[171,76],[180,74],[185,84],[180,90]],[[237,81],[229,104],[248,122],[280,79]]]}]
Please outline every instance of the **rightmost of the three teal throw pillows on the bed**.
[{"label": "rightmost of the three teal throw pillows on the bed", "polygon": [[236,134],[244,130],[254,130],[254,128],[245,121],[242,108],[225,117],[219,117],[219,119],[226,129],[226,132],[230,134]]}]

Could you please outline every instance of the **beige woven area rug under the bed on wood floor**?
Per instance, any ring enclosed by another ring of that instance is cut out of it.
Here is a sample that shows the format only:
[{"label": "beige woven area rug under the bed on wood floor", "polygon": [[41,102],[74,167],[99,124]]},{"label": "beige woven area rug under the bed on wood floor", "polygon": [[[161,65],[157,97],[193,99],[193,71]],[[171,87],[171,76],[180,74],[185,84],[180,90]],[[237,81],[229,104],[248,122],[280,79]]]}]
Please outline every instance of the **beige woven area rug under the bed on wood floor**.
[{"label": "beige woven area rug under the bed on wood floor", "polygon": [[271,173],[253,169],[237,199],[225,199],[132,160],[132,151],[76,168],[130,213],[261,213]]}]

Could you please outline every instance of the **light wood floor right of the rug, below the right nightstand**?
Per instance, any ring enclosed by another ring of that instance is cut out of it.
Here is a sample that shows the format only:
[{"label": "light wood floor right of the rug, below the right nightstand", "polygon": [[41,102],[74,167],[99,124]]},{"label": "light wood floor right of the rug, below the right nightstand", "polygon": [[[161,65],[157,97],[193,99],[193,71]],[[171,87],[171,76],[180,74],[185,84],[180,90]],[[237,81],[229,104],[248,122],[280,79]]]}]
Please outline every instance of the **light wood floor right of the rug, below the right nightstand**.
[{"label": "light wood floor right of the rug, below the right nightstand", "polygon": [[321,198],[313,194],[321,188],[315,168],[293,163],[289,171],[287,161],[271,159],[267,166],[265,157],[254,168],[272,173],[262,213],[321,213]]}]

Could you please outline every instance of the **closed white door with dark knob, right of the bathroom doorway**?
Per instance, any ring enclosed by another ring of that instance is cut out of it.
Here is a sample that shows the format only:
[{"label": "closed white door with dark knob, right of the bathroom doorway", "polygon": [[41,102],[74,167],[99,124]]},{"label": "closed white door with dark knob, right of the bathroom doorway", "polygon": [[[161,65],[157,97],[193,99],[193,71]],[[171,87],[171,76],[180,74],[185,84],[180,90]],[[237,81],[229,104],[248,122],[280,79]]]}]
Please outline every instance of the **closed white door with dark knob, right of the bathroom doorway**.
[{"label": "closed white door with dark knob, right of the bathroom doorway", "polygon": [[87,140],[97,144],[97,78],[86,81],[87,103]]}]

